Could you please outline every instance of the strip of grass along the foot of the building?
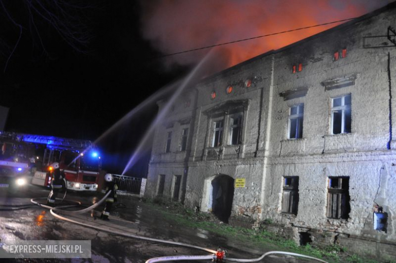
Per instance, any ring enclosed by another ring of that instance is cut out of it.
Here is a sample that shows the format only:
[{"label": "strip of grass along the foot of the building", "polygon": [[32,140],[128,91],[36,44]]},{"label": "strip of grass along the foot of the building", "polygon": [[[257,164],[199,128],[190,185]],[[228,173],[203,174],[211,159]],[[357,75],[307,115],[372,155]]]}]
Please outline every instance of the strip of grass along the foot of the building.
[{"label": "strip of grass along the foot of the building", "polygon": [[[355,262],[374,263],[378,262],[370,258],[362,258],[358,255],[346,253],[346,249],[333,244],[326,247],[317,247],[311,244],[305,246],[297,245],[294,240],[285,239],[265,229],[251,229],[245,227],[231,226],[219,221],[210,213],[195,212],[185,208],[180,203],[167,202],[163,199],[142,200],[147,205],[155,206],[164,218],[174,221],[176,224],[190,228],[201,228],[211,233],[235,240],[241,244],[249,244],[255,247],[266,247],[271,250],[282,250],[313,256],[328,262]],[[263,223],[272,224],[267,219]],[[385,261],[396,263],[396,261]]]}]

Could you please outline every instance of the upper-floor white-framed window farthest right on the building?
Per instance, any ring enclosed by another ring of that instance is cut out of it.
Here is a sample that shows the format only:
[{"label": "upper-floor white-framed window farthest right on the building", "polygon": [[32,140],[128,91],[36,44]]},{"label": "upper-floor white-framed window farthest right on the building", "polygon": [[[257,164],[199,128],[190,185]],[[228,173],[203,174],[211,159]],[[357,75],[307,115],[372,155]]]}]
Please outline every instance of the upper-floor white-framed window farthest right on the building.
[{"label": "upper-floor white-framed window farthest right on the building", "polygon": [[351,94],[332,100],[332,134],[351,132]]}]

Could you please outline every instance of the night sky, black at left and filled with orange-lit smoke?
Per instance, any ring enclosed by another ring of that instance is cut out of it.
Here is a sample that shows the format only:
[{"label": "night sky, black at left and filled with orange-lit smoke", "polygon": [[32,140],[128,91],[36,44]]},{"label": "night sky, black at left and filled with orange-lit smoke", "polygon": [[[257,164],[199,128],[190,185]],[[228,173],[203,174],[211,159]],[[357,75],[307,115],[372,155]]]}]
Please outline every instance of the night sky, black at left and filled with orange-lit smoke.
[{"label": "night sky, black at left and filled with orange-lit smoke", "polygon": [[[356,17],[392,1],[296,2],[0,0],[6,130],[95,141],[209,50],[164,54]],[[222,46],[206,74],[335,25]],[[98,143],[106,169],[122,171],[156,111],[150,104]]]}]

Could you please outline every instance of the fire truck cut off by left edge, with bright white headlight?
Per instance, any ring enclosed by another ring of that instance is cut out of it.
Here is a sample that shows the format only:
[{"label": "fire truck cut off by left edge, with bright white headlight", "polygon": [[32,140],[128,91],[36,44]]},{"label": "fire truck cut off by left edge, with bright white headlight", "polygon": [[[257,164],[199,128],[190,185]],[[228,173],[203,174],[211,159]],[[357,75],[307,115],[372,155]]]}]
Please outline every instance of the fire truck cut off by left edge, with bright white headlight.
[{"label": "fire truck cut off by left edge, with bright white headlight", "polygon": [[18,134],[0,131],[0,147],[0,188],[26,185],[35,172],[35,145]]}]

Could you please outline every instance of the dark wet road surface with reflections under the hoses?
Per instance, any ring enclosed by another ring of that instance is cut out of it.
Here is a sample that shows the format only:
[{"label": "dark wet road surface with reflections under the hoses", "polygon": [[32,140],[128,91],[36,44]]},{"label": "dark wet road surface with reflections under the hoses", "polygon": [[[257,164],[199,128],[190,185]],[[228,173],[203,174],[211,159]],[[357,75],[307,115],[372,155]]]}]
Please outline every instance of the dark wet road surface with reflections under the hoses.
[{"label": "dark wet road surface with reflections under the hoses", "polygon": [[[22,191],[0,188],[0,204],[30,204],[31,198],[46,197],[48,193],[47,189],[37,186],[28,186]],[[102,196],[103,194],[94,196],[68,193],[66,199],[80,201],[82,206],[88,207]],[[94,214],[90,213],[79,216],[79,220],[85,223],[102,224],[107,227],[112,225],[116,229],[124,229],[125,232],[139,236],[187,243],[213,250],[220,246],[228,251],[228,257],[234,258],[256,258],[262,253],[273,250],[249,247],[247,244],[242,245],[235,240],[228,240],[203,229],[177,226],[174,222],[158,216],[158,213],[152,207],[128,196],[120,196],[118,203],[122,203],[124,206],[112,211],[112,215],[116,216],[114,220],[111,220],[112,224],[100,219],[95,220],[92,217]],[[76,210],[80,209],[82,208],[76,208]],[[95,214],[97,215],[102,209],[103,207],[97,208],[98,211]],[[118,225],[116,225],[117,223]],[[127,238],[83,227],[59,220],[53,217],[49,210],[39,206],[30,206],[14,211],[0,211],[0,238],[1,240],[91,240],[91,259],[61,259],[64,262],[145,262],[149,258],[158,256],[208,254],[201,250]],[[2,260],[0,259],[0,261]],[[21,259],[12,259],[12,261],[22,262]],[[23,261],[26,262],[26,260]],[[29,262],[52,261],[54,260],[29,260]],[[199,261],[194,260],[193,262]],[[299,260],[290,257],[270,256],[260,262],[299,262]]]}]

